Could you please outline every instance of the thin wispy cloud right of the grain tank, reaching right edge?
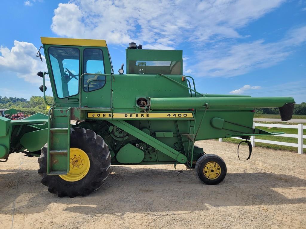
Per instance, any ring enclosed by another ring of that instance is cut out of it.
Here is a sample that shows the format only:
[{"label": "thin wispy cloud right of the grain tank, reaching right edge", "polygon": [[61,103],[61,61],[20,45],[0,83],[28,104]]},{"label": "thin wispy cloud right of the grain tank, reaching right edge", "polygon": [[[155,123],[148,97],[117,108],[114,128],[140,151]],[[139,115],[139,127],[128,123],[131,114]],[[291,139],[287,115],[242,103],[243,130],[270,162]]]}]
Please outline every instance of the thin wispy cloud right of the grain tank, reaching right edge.
[{"label": "thin wispy cloud right of the grain tank, reaching right edge", "polygon": [[199,62],[191,66],[202,77],[231,77],[243,75],[253,69],[273,66],[284,60],[294,47],[306,41],[306,26],[288,32],[280,41],[266,43],[256,40],[228,45],[218,43],[209,50],[196,54]]}]

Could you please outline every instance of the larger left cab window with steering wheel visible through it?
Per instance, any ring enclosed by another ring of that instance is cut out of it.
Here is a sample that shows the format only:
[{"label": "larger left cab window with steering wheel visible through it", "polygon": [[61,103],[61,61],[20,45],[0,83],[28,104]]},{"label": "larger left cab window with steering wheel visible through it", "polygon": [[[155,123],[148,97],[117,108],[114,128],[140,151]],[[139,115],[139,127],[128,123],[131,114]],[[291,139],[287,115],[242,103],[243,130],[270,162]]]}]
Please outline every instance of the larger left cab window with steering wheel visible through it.
[{"label": "larger left cab window with steering wheel visible through it", "polygon": [[48,53],[58,98],[78,94],[80,50],[50,47]]}]

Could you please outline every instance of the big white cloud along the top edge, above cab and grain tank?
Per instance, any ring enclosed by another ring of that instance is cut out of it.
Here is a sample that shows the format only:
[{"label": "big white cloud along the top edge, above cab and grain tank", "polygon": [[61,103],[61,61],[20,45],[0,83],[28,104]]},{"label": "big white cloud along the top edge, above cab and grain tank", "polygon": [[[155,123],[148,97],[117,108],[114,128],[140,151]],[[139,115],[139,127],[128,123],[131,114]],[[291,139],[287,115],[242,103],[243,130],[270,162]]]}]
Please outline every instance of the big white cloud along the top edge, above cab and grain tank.
[{"label": "big white cloud along the top edge, above cab and grain tank", "polygon": [[179,43],[241,37],[237,28],[284,0],[72,0],[54,10],[51,29],[70,38],[106,39],[144,48],[174,49]]}]

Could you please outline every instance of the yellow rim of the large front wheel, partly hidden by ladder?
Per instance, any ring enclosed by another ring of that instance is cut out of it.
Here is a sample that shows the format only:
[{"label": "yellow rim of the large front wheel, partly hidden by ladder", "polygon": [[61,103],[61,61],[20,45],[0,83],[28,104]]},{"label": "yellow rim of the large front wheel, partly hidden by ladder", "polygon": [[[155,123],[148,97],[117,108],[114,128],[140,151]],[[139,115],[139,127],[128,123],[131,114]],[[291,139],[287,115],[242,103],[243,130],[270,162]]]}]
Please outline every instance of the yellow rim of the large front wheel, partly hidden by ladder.
[{"label": "yellow rim of the large front wheel, partly hidden by ladder", "polygon": [[60,175],[63,180],[81,180],[89,171],[90,161],[87,154],[79,148],[70,148],[69,173]]}]

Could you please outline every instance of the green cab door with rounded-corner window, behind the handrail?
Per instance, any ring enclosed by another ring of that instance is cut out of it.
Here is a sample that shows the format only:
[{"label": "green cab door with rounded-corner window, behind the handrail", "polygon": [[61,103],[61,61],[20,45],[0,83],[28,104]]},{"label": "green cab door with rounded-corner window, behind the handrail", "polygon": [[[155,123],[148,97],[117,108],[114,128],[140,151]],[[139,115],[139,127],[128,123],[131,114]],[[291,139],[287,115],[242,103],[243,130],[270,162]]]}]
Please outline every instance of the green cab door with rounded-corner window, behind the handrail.
[{"label": "green cab door with rounded-corner window, behind the handrail", "polygon": [[82,53],[81,106],[111,108],[111,77],[103,75],[111,73],[107,48],[82,47]]}]

